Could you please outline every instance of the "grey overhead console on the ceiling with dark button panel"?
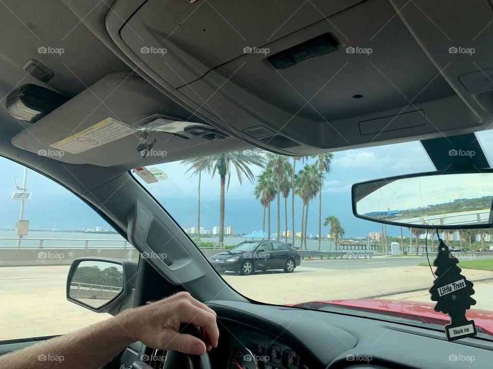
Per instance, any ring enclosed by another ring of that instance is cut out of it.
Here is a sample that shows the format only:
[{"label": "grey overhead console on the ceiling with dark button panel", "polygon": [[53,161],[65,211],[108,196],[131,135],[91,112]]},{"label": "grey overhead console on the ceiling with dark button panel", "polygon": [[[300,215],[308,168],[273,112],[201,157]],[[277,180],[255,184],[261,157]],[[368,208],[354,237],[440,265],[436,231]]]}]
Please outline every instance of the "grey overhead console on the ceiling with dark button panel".
[{"label": "grey overhead console on the ceiling with dark button panel", "polygon": [[[226,132],[271,151],[459,134],[493,117],[487,0],[136,0],[112,8],[106,27],[126,56]],[[475,58],[481,49],[486,72],[452,46],[476,47]]]}]

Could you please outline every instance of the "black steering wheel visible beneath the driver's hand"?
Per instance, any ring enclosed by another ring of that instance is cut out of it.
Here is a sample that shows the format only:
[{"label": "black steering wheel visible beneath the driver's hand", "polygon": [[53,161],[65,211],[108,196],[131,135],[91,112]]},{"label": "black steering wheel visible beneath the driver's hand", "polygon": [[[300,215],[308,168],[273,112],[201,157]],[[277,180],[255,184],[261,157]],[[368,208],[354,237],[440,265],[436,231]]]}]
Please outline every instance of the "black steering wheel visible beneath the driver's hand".
[{"label": "black steering wheel visible beneath the driver's hand", "polygon": [[[194,324],[182,323],[179,329],[180,333],[189,334],[199,339],[202,339],[197,327]],[[205,352],[204,355],[189,355],[178,351],[168,351],[164,360],[164,369],[212,369],[209,355]]]}]

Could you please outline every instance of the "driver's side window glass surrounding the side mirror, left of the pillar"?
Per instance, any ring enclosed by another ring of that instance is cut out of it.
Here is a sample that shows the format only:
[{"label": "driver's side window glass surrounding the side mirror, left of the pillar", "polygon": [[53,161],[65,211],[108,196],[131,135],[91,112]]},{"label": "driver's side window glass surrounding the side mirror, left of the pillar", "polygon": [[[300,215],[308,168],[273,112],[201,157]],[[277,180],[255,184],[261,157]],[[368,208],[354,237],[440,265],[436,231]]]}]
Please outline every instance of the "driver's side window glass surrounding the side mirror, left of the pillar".
[{"label": "driver's side window glass surrounding the side mirror, left of the pillar", "polygon": [[66,300],[70,264],[82,256],[137,261],[137,250],[58,183],[2,157],[0,168],[0,341],[110,317]]}]

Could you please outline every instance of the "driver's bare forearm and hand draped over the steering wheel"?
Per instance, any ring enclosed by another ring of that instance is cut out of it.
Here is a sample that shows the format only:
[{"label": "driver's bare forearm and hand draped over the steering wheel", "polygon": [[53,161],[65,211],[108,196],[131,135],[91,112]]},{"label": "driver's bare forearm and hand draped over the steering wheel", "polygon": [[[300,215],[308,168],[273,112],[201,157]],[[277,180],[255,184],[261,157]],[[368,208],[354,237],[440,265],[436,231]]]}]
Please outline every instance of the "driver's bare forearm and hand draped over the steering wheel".
[{"label": "driver's bare forearm and hand draped over the steering wheel", "polygon": [[[204,342],[180,334],[181,323],[199,327]],[[80,331],[52,338],[0,357],[0,369],[99,368],[135,341],[161,350],[202,355],[217,346],[216,313],[190,294],[181,292],[164,300],[128,309],[114,318]],[[54,355],[60,361],[40,361]]]}]

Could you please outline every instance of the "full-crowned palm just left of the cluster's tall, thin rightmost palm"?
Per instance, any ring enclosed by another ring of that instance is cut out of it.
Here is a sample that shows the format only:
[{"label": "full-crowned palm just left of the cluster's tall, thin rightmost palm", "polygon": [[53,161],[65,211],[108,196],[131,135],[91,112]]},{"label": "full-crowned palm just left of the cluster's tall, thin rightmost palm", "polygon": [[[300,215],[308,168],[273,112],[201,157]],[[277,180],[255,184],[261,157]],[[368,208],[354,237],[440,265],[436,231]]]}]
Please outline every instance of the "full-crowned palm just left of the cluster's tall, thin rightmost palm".
[{"label": "full-crowned palm just left of the cluster's tall, thin rightmost palm", "polygon": [[312,200],[320,190],[322,186],[322,175],[318,171],[317,164],[312,165],[306,164],[305,167],[299,171],[297,174],[296,181],[296,193],[303,201],[304,206],[304,226],[302,226],[302,240],[305,245],[305,250],[307,249],[307,228],[308,228],[308,210],[310,200]]}]

